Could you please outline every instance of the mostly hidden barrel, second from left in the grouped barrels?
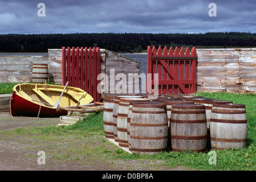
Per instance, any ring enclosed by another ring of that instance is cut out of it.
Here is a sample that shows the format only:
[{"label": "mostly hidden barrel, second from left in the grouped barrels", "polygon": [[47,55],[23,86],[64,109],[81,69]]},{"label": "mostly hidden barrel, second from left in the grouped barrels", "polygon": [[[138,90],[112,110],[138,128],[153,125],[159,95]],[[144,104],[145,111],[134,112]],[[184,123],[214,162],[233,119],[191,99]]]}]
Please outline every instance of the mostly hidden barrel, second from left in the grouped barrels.
[{"label": "mostly hidden barrel, second from left in the grouped barrels", "polygon": [[120,98],[129,98],[129,97],[135,97],[135,98],[143,98],[143,96],[131,96],[131,95],[119,95],[115,97],[115,102],[113,105],[113,132],[114,132],[114,139],[115,142],[118,143],[118,137],[117,137],[117,112],[119,107],[119,101]]}]

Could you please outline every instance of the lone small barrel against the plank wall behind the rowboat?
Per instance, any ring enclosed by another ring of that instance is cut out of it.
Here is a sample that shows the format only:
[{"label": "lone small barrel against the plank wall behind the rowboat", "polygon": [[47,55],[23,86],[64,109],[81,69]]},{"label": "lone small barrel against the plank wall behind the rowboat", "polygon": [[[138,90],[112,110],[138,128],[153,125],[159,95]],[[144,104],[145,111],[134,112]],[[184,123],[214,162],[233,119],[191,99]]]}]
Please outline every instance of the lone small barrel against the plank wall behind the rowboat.
[{"label": "lone small barrel against the plank wall behind the rowboat", "polygon": [[32,82],[35,84],[44,84],[48,81],[48,64],[33,64]]}]

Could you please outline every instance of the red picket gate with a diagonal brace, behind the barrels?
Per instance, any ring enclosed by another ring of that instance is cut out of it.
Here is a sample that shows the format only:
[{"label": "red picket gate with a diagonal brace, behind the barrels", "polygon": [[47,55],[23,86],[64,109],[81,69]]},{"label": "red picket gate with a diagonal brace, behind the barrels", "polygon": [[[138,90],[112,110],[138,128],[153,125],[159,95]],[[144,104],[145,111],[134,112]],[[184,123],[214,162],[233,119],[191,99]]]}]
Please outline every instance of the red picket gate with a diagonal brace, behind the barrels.
[{"label": "red picket gate with a diagonal brace, behind the barrels", "polygon": [[[196,90],[196,61],[197,52],[193,47],[191,54],[189,48],[181,47],[180,51],[176,47],[170,47],[169,51],[165,47],[162,51],[161,47],[151,49],[148,46],[147,57],[147,73],[152,73],[151,82],[153,85],[159,85],[158,94],[166,93],[194,93]],[[154,82],[154,73],[159,73],[158,83]],[[147,93],[152,93],[148,90]]]}]

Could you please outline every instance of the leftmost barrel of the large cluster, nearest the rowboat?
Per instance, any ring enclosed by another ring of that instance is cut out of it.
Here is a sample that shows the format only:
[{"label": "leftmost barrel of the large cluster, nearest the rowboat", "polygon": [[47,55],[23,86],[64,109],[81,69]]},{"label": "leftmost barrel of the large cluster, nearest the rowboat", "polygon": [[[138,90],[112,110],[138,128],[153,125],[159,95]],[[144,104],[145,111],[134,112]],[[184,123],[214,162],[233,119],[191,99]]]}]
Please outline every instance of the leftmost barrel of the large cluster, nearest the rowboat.
[{"label": "leftmost barrel of the large cluster, nearest the rowboat", "polygon": [[114,139],[114,129],[113,129],[113,105],[115,102],[115,97],[119,95],[109,94],[105,95],[104,101],[104,112],[103,112],[103,125],[105,138]]}]

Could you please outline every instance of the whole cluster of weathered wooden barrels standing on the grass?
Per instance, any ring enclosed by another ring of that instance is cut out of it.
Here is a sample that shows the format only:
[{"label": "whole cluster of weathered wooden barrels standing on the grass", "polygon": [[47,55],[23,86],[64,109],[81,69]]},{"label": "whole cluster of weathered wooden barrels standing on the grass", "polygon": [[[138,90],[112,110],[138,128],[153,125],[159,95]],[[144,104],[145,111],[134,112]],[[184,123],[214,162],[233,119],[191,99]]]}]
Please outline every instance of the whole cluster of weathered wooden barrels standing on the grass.
[{"label": "whole cluster of weathered wooden barrels standing on the grass", "polygon": [[192,94],[106,94],[105,138],[139,154],[245,147],[245,105]]}]

